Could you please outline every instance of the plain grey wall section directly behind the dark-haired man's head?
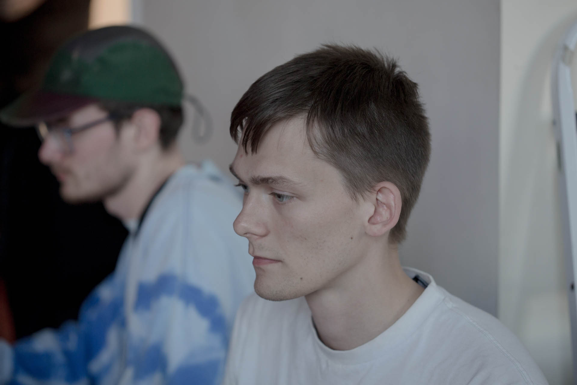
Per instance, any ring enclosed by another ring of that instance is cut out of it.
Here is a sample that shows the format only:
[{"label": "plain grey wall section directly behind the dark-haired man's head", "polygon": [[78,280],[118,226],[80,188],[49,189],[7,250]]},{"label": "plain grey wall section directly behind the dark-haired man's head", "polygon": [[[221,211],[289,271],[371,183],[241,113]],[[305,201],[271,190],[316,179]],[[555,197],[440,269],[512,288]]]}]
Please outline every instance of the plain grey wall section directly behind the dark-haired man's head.
[{"label": "plain grey wall section directly behind the dark-haired man's head", "polygon": [[499,2],[464,0],[138,0],[144,25],[171,48],[188,89],[213,115],[187,158],[226,170],[230,111],[274,66],[323,42],[400,58],[430,117],[433,152],[409,221],[403,263],[464,300],[497,309]]}]

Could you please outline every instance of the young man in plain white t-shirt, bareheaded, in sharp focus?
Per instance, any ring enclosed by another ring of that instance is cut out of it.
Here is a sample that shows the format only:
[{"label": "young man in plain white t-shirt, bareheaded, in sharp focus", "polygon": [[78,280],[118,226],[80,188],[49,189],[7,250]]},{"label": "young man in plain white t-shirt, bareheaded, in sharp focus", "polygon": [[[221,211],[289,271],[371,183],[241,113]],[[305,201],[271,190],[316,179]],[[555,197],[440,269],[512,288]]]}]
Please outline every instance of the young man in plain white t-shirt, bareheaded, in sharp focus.
[{"label": "young man in plain white t-shirt, bareheaded, in sharp focus", "polygon": [[299,55],[251,85],[230,132],[258,296],[239,309],[225,384],[546,383],[498,320],[400,266],[430,140],[394,60]]}]

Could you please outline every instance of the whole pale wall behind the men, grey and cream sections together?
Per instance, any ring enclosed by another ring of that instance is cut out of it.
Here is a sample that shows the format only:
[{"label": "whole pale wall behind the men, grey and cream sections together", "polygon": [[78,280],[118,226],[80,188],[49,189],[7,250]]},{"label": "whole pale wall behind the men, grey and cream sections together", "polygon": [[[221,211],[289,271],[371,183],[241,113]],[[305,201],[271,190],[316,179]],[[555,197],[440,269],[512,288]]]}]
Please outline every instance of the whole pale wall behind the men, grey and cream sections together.
[{"label": "whole pale wall behind the men, grey and cream sections together", "polygon": [[223,170],[235,150],[230,111],[273,66],[331,41],[399,57],[421,85],[433,133],[403,262],[489,312],[498,294],[500,319],[549,382],[572,383],[549,66],[577,18],[574,0],[133,3],[213,115],[211,141],[195,144],[185,130],[183,151]]}]

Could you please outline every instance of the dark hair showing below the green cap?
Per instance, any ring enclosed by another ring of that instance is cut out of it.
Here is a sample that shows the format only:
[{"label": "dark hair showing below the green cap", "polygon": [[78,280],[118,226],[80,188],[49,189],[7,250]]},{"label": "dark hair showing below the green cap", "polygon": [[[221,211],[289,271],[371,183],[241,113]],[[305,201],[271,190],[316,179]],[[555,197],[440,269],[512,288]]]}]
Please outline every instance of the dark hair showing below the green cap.
[{"label": "dark hair showing below the green cap", "polygon": [[118,118],[115,120],[117,128],[120,128],[122,121],[130,119],[136,110],[143,108],[155,110],[160,117],[159,140],[163,149],[167,149],[176,141],[183,122],[181,106],[143,105],[110,100],[101,101],[99,106]]}]

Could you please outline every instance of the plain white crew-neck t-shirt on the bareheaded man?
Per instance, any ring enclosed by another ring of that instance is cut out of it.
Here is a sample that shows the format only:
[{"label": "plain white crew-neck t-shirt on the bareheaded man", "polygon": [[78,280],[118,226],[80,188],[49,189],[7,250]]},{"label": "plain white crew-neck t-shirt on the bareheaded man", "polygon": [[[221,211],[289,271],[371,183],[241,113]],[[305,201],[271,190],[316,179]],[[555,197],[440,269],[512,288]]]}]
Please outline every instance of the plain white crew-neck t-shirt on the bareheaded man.
[{"label": "plain white crew-neck t-shirt on the bareheaded man", "polygon": [[372,341],[332,350],[314,330],[304,297],[253,294],[239,308],[225,385],[546,384],[514,334],[495,317],[447,293],[433,278],[400,319]]}]

